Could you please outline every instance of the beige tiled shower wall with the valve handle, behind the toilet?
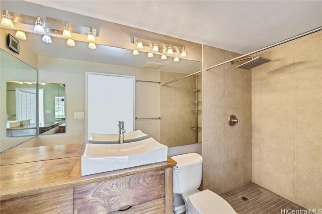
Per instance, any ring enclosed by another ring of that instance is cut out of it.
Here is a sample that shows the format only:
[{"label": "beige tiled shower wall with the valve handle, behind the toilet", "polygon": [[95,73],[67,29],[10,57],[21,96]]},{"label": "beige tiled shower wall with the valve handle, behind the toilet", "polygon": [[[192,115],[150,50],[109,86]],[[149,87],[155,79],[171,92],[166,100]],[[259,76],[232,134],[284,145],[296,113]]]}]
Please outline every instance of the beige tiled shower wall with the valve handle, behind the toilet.
[{"label": "beige tiled shower wall with the valve handle, behind the toilet", "polygon": [[[222,193],[252,179],[250,70],[225,64],[239,56],[203,45],[203,189]],[[239,127],[229,126],[235,115]]]}]

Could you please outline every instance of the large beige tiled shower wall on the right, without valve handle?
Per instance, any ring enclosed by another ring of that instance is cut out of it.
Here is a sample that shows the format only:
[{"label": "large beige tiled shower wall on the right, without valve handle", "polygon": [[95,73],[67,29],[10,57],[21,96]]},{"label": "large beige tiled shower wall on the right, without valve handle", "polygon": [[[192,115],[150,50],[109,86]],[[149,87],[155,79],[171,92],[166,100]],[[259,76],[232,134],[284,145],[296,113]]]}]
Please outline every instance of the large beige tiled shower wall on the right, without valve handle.
[{"label": "large beige tiled shower wall on the right, without valve handle", "polygon": [[253,69],[253,182],[322,207],[322,34],[261,55]]}]

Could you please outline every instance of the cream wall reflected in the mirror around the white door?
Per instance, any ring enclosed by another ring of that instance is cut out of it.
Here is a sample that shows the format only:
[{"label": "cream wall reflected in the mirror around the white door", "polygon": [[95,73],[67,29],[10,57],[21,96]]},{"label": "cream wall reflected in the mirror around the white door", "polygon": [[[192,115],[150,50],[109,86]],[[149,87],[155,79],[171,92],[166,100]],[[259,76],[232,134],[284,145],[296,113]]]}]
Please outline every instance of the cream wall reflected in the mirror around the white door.
[{"label": "cream wall reflected in the mirror around the white door", "polygon": [[[38,145],[85,142],[85,119],[74,119],[75,112],[85,112],[85,72],[135,76],[138,80],[160,81],[160,74],[149,69],[38,56],[39,82],[64,83],[66,133],[38,136]],[[136,117],[159,117],[159,84],[136,82]],[[136,129],[159,140],[159,120],[136,121]],[[117,126],[117,124],[116,124]]]}]

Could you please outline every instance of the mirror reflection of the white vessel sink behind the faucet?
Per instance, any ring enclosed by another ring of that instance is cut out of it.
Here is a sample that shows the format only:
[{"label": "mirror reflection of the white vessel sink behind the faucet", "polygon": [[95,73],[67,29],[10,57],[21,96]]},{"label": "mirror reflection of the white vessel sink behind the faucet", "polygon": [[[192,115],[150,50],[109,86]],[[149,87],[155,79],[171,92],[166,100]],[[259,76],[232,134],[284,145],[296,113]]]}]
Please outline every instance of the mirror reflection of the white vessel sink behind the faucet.
[{"label": "mirror reflection of the white vessel sink behind the faucet", "polygon": [[[148,135],[141,132],[141,130],[124,133],[124,143],[140,141],[147,138],[148,138]],[[118,134],[98,134],[98,133],[92,133],[88,141],[88,143],[98,143],[98,144],[115,144],[118,142],[119,142]]]}]

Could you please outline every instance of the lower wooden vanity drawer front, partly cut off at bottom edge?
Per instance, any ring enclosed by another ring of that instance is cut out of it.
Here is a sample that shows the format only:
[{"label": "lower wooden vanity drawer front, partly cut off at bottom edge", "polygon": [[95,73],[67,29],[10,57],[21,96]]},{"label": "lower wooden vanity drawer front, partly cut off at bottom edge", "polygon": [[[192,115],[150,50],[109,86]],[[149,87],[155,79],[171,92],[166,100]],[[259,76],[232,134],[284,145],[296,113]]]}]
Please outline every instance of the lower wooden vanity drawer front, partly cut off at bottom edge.
[{"label": "lower wooden vanity drawer front, partly cut off at bottom edge", "polygon": [[165,198],[158,198],[155,200],[147,201],[145,203],[141,203],[124,211],[115,211],[110,214],[165,214]]}]

